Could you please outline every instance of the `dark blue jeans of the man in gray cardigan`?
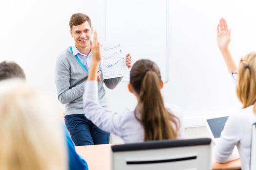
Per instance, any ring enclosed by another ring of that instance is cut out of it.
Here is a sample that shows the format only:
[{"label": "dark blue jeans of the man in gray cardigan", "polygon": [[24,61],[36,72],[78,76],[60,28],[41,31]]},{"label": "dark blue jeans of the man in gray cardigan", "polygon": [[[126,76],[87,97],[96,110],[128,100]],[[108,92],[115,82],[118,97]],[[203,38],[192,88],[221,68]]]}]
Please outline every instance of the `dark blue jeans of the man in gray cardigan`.
[{"label": "dark blue jeans of the man in gray cardigan", "polygon": [[95,126],[84,114],[65,116],[65,124],[76,146],[109,143],[109,133]]}]

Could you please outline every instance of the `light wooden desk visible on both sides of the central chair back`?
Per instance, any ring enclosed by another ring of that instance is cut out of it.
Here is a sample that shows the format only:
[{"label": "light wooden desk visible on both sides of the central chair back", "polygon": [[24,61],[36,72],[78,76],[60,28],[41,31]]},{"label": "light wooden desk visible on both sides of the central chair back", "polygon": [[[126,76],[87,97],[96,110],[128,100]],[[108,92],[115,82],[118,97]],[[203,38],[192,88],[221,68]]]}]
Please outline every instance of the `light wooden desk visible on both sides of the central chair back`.
[{"label": "light wooden desk visible on both sides of the central chair back", "polygon": [[[111,144],[76,146],[76,152],[84,157],[89,170],[110,170]],[[220,164],[213,163],[213,170],[239,170],[241,169],[240,159]]]}]

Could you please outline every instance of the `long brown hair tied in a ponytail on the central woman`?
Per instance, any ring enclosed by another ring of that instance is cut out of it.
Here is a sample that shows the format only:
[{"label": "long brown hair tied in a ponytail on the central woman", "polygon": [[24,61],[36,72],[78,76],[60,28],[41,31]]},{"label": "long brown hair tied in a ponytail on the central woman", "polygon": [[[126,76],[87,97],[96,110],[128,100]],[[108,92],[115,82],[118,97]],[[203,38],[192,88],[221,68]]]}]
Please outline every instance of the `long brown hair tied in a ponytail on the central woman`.
[{"label": "long brown hair tied in a ponytail on the central woman", "polygon": [[139,95],[140,118],[147,140],[177,138],[179,119],[164,106],[161,95],[161,74],[156,64],[150,60],[138,60],[130,72],[130,84]]}]

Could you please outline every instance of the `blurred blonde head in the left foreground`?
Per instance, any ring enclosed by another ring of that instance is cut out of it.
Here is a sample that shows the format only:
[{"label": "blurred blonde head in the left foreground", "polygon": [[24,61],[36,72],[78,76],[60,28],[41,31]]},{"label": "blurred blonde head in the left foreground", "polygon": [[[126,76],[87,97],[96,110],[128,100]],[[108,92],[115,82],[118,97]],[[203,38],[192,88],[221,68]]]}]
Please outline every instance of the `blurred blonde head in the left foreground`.
[{"label": "blurred blonde head in the left foreground", "polygon": [[0,82],[0,170],[66,170],[63,126],[49,99],[19,79]]}]

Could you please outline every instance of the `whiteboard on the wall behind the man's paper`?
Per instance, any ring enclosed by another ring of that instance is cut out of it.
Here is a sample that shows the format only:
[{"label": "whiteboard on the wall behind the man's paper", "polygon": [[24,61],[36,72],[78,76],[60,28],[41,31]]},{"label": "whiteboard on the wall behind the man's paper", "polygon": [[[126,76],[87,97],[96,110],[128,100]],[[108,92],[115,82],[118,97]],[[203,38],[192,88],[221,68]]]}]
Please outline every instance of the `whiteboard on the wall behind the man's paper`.
[{"label": "whiteboard on the wall behind the man's paper", "polygon": [[[120,42],[132,62],[154,61],[164,82],[169,80],[168,0],[107,0],[106,41]],[[129,71],[123,81],[129,81]]]}]

